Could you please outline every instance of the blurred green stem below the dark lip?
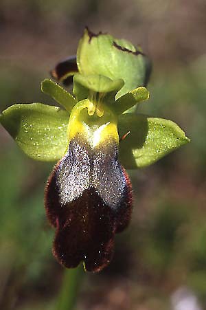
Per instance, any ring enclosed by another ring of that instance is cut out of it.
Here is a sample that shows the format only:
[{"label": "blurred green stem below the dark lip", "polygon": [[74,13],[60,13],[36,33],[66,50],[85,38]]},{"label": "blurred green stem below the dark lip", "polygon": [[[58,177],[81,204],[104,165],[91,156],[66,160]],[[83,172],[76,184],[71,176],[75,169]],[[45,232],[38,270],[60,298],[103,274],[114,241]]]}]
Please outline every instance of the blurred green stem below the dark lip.
[{"label": "blurred green stem below the dark lip", "polygon": [[56,310],[75,309],[82,275],[82,265],[75,269],[65,269]]}]

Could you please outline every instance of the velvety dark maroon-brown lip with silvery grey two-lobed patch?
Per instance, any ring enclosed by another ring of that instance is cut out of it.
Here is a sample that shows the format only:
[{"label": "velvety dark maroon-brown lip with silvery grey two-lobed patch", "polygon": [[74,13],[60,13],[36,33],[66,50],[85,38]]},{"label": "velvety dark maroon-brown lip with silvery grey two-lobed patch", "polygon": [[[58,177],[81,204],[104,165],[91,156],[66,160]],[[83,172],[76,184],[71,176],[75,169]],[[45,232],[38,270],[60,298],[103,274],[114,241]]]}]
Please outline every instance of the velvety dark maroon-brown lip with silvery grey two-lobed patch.
[{"label": "velvety dark maroon-brown lip with silvery grey two-lobed patch", "polygon": [[[106,267],[113,256],[115,233],[122,232],[130,221],[130,180],[117,160],[116,146],[103,148],[104,155],[85,142],[72,140],[47,183],[45,208],[50,223],[56,227],[53,254],[68,268],[81,261],[91,272]],[[70,178],[72,183],[67,188]],[[106,179],[109,193],[101,186],[101,182],[106,186]],[[62,188],[60,184],[65,185]]]}]

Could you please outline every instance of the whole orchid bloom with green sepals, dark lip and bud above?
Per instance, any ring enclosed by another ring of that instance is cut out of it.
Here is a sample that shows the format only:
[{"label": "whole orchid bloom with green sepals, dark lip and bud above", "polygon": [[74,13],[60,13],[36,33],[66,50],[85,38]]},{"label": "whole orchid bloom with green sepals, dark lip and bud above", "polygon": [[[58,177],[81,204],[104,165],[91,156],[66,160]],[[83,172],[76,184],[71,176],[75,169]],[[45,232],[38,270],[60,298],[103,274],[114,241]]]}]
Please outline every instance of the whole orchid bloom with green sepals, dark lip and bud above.
[{"label": "whole orchid bloom with green sepals, dark lip and bud above", "polygon": [[53,254],[67,268],[99,272],[112,259],[115,234],[130,222],[133,195],[126,169],[148,166],[189,142],[170,120],[137,113],[149,98],[148,58],[140,47],[84,30],[77,56],[42,91],[63,109],[14,104],[0,122],[32,159],[58,161],[45,188],[45,209],[56,229]]}]

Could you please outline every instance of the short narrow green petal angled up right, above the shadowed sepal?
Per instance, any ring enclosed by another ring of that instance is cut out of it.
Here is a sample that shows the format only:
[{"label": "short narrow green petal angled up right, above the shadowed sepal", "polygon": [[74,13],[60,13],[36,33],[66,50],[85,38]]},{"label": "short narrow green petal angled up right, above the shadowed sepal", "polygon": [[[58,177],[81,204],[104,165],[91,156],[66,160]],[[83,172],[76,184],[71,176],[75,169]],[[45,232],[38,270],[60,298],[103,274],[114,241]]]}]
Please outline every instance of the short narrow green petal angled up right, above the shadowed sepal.
[{"label": "short narrow green petal angled up right, above the shadowed sepal", "polygon": [[133,89],[133,91],[129,91],[124,96],[120,97],[113,107],[113,110],[117,114],[122,114],[124,111],[130,109],[135,104],[142,102],[144,100],[148,100],[150,94],[146,87],[138,87]]}]

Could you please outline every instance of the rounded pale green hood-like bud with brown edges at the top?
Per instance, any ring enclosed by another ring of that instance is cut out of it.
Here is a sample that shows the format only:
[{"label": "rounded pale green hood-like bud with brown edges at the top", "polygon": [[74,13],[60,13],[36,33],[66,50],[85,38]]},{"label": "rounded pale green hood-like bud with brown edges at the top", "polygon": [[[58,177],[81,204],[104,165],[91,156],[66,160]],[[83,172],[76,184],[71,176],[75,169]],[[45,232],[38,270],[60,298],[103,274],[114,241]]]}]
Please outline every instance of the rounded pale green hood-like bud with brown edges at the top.
[{"label": "rounded pale green hood-like bud with brown edges at the top", "polygon": [[117,40],[108,34],[84,31],[77,51],[80,74],[100,74],[112,80],[122,78],[124,87],[116,99],[136,87],[146,85],[148,58],[139,48],[126,40]]}]

